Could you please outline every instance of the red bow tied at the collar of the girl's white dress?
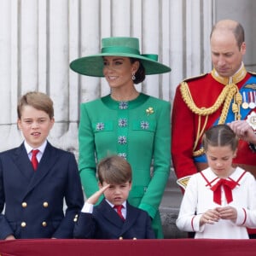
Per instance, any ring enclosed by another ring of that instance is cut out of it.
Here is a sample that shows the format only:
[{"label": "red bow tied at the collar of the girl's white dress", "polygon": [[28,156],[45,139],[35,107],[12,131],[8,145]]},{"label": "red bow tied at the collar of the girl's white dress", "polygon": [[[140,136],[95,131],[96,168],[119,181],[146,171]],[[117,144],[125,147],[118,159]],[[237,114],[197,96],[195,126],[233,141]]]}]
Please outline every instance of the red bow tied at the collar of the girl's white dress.
[{"label": "red bow tied at the collar of the girl's white dress", "polygon": [[213,191],[213,201],[215,201],[218,205],[221,205],[221,186],[224,188],[227,202],[230,203],[230,201],[233,201],[232,189],[234,189],[236,185],[237,183],[233,180],[220,178],[218,183],[211,188]]}]

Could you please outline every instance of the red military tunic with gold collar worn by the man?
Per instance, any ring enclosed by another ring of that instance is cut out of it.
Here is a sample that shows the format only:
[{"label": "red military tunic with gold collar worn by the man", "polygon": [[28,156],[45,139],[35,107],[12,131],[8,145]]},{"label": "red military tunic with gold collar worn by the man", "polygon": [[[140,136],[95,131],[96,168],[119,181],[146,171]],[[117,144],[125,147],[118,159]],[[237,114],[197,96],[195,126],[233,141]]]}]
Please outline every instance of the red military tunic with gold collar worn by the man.
[{"label": "red military tunic with gold collar worn by the man", "polygon": [[[251,83],[252,79],[254,79],[254,84]],[[234,75],[233,83],[236,84],[237,88],[239,90],[246,88],[243,90],[247,90],[247,99],[243,98],[243,102],[249,101],[249,91],[255,91],[255,81],[256,77],[251,73],[247,73],[244,67],[241,67],[240,71]],[[211,108],[216,103],[226,84],[229,84],[229,79],[219,77],[218,73],[212,70],[212,73],[207,73],[194,79],[187,79],[185,82],[189,89],[188,95],[184,97],[181,91],[182,85],[179,84],[172,108],[172,163],[177,178],[180,179],[178,181],[183,181],[184,187],[189,179],[188,176],[207,167],[206,161],[197,161],[196,157],[193,156],[193,152],[201,148],[201,136],[203,135],[203,131],[207,131],[214,123],[217,124],[218,118],[224,111],[224,103],[222,103],[216,108],[215,112],[202,116],[199,113],[194,113],[189,108],[188,102],[192,102],[192,105],[194,102],[195,107],[198,109]],[[241,92],[241,96],[245,96],[245,93]],[[232,108],[232,102],[230,102],[229,108]],[[239,108],[241,112],[247,111],[247,114],[253,111],[253,109],[242,109],[241,105]],[[241,119],[246,119],[247,114],[244,114],[245,116],[242,116]],[[231,111],[231,115],[224,120],[224,123],[235,119],[235,113]],[[199,131],[198,127],[200,127]],[[195,145],[197,138],[198,143]],[[255,177],[256,154],[248,147],[247,142],[239,141],[237,156],[233,162],[235,166],[241,166],[241,168],[252,172]],[[183,179],[183,177],[188,178]]]}]

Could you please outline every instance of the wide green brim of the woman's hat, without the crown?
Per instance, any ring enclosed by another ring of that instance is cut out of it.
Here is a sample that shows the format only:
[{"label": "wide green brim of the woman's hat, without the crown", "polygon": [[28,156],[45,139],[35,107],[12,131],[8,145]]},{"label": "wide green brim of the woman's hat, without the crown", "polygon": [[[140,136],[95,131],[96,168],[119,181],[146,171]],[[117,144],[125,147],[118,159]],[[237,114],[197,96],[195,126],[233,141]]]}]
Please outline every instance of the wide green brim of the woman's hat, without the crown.
[{"label": "wide green brim of the woman's hat, without the crown", "polygon": [[146,75],[150,74],[160,74],[168,73],[171,71],[170,67],[159,63],[158,61],[153,61],[143,55],[132,55],[132,54],[114,54],[114,53],[102,53],[98,55],[90,55],[76,59],[70,63],[70,68],[79,74],[83,74],[91,77],[104,77],[103,75],[103,60],[102,56],[122,56],[136,58],[140,60],[145,68]]}]

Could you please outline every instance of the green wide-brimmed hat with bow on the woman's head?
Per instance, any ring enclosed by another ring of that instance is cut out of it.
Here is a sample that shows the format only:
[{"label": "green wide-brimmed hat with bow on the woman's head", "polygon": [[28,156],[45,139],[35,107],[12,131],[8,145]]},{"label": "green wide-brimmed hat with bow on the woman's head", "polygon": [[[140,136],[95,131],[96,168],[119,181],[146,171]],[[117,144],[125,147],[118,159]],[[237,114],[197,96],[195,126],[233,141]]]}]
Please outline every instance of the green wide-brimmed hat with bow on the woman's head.
[{"label": "green wide-brimmed hat with bow on the woman's head", "polygon": [[102,52],[76,59],[70,68],[77,73],[92,77],[103,77],[102,56],[136,58],[143,64],[146,74],[167,73],[170,67],[158,62],[158,55],[141,55],[138,38],[102,38]]}]

